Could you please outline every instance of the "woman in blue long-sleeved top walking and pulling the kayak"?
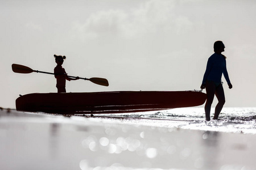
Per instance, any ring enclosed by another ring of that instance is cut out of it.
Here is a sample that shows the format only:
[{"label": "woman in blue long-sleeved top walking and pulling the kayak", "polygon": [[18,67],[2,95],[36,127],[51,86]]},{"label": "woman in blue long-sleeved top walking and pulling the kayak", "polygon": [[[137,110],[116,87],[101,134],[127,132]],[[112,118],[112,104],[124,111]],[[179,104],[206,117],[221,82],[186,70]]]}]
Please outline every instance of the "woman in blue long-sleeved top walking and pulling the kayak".
[{"label": "woman in blue long-sleeved top walking and pulling the kayak", "polygon": [[222,41],[216,41],[213,45],[214,54],[209,57],[207,62],[207,68],[204,73],[203,83],[201,89],[206,88],[207,92],[207,102],[205,103],[205,117],[207,121],[210,121],[210,107],[212,106],[214,94],[218,99],[218,104],[216,105],[214,112],[214,120],[218,119],[218,115],[225,104],[225,95],[222,87],[221,76],[224,74],[226,82],[231,89],[232,84],[229,80],[228,71],[226,70],[226,57],[221,54],[224,52],[225,45]]}]

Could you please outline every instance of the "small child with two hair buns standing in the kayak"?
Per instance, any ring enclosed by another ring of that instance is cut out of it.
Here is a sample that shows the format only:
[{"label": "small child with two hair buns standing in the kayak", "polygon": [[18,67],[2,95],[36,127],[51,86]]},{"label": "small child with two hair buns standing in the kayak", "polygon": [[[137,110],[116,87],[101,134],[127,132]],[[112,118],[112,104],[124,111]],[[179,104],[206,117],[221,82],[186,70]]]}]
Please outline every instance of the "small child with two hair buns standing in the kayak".
[{"label": "small child with two hair buns standing in the kayak", "polygon": [[57,84],[57,90],[58,93],[66,92],[66,80],[78,80],[79,76],[74,78],[69,78],[68,74],[66,73],[65,69],[61,66],[64,62],[65,56],[57,56],[54,54],[55,62],[57,63],[57,66],[54,68],[54,76],[56,78]]}]

